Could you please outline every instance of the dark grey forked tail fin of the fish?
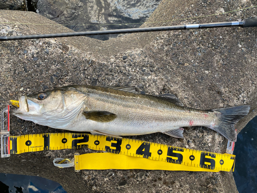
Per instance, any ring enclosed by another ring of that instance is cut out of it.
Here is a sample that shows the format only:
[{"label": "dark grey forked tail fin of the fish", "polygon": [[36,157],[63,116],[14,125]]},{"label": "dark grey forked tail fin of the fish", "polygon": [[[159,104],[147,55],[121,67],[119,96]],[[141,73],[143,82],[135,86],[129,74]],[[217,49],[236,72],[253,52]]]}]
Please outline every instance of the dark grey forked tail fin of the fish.
[{"label": "dark grey forked tail fin of the fish", "polygon": [[218,124],[210,129],[217,131],[231,142],[236,142],[234,125],[249,113],[250,106],[238,106],[224,109],[213,109],[213,112],[221,113],[218,116]]}]

